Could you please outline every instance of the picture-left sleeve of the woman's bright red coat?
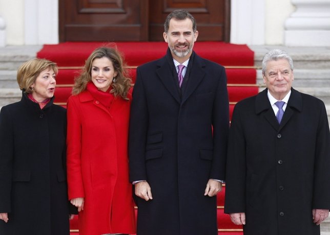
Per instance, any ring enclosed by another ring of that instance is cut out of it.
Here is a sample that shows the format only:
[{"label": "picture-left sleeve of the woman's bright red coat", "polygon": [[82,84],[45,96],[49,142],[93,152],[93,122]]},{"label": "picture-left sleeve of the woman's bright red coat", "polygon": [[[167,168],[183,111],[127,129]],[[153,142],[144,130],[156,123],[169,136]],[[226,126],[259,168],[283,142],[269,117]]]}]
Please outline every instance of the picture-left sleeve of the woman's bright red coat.
[{"label": "picture-left sleeve of the woman's bright red coat", "polygon": [[85,197],[81,174],[81,120],[73,99],[68,101],[67,122],[68,196],[72,199]]}]

